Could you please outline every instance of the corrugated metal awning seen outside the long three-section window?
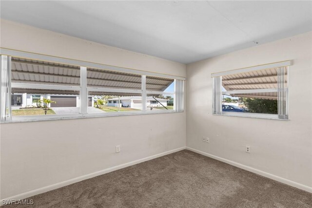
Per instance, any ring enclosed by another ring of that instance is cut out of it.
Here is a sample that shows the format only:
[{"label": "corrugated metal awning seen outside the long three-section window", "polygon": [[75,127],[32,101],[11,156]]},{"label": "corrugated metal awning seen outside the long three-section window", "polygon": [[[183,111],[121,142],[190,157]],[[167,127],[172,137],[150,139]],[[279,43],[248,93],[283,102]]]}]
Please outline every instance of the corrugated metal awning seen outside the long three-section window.
[{"label": "corrugated metal awning seen outside the long three-section window", "polygon": [[[12,57],[12,82],[79,86],[79,70],[79,66]],[[173,82],[174,79],[170,78],[146,76],[146,90],[162,92]],[[140,90],[141,75],[87,68],[87,86]],[[13,93],[21,91],[22,89],[12,89]],[[24,91],[43,92],[34,89],[24,89]],[[51,92],[44,90],[44,92],[56,93],[55,90]]]}]

